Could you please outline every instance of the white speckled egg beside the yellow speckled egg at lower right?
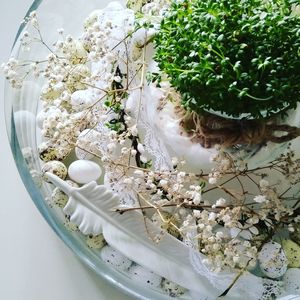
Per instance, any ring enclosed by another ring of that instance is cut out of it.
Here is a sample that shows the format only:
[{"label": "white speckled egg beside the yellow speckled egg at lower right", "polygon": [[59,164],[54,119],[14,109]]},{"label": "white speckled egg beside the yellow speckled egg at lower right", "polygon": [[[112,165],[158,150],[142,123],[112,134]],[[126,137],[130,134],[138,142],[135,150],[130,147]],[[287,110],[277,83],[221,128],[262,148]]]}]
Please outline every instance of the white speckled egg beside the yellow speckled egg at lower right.
[{"label": "white speckled egg beside the yellow speckled egg at lower right", "polygon": [[280,244],[266,243],[258,254],[261,271],[269,278],[279,278],[287,270],[288,261]]}]

